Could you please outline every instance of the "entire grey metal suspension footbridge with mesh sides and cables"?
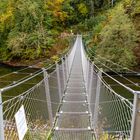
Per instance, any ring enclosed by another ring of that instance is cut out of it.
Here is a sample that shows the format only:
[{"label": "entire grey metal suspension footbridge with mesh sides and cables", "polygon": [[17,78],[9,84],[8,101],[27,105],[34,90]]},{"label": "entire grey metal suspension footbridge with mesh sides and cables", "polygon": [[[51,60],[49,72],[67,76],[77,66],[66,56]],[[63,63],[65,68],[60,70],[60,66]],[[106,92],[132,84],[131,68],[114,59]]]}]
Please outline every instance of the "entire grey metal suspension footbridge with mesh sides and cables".
[{"label": "entire grey metal suspension footbridge with mesh sides and cables", "polygon": [[[95,65],[81,35],[59,62],[29,71],[14,73],[28,74],[0,89],[0,140],[19,139],[15,114],[21,106],[28,126],[25,140],[139,140],[140,91]],[[132,99],[118,94],[104,77],[129,92]],[[34,78],[40,80],[32,85]],[[12,96],[26,84],[32,86]]]}]

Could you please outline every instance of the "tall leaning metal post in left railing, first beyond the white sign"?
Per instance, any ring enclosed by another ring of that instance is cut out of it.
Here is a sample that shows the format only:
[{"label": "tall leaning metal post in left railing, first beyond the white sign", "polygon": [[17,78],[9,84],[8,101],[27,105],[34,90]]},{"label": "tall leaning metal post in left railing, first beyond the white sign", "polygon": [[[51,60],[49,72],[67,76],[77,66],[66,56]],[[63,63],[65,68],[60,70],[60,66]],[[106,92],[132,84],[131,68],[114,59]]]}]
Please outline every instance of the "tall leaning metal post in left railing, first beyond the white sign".
[{"label": "tall leaning metal post in left railing, first beyond the white sign", "polygon": [[50,126],[53,126],[53,114],[52,114],[52,105],[51,105],[51,98],[50,98],[50,89],[49,89],[49,82],[48,82],[48,74],[45,68],[43,68],[44,73],[44,83],[45,83],[45,94],[46,94],[46,100],[47,100],[47,107],[48,107],[48,113],[49,113],[49,120],[50,120]]}]

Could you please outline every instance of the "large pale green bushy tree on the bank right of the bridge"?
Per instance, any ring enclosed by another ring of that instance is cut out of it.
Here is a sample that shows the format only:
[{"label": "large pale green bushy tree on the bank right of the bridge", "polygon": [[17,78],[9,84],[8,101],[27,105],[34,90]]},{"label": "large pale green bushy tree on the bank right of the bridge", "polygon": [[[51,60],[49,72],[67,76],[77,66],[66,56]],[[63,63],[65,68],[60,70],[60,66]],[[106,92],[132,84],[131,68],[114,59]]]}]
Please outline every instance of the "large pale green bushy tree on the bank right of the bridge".
[{"label": "large pale green bushy tree on the bank right of the bridge", "polygon": [[133,23],[125,14],[122,5],[111,10],[109,19],[108,25],[100,33],[101,41],[97,54],[124,67],[131,67],[135,63],[133,48],[137,45],[137,33]]}]

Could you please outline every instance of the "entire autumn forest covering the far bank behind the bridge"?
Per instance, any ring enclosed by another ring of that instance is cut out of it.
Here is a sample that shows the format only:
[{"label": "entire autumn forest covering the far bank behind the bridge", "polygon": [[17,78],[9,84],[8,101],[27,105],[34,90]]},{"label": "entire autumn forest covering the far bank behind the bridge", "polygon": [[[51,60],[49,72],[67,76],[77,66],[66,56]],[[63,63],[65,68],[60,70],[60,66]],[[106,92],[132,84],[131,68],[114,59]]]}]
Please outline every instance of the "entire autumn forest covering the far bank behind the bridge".
[{"label": "entire autumn forest covering the far bank behind the bridge", "polygon": [[[89,56],[140,69],[139,0],[1,0],[0,61],[57,58],[72,33]],[[103,60],[102,60],[103,61]]]}]

